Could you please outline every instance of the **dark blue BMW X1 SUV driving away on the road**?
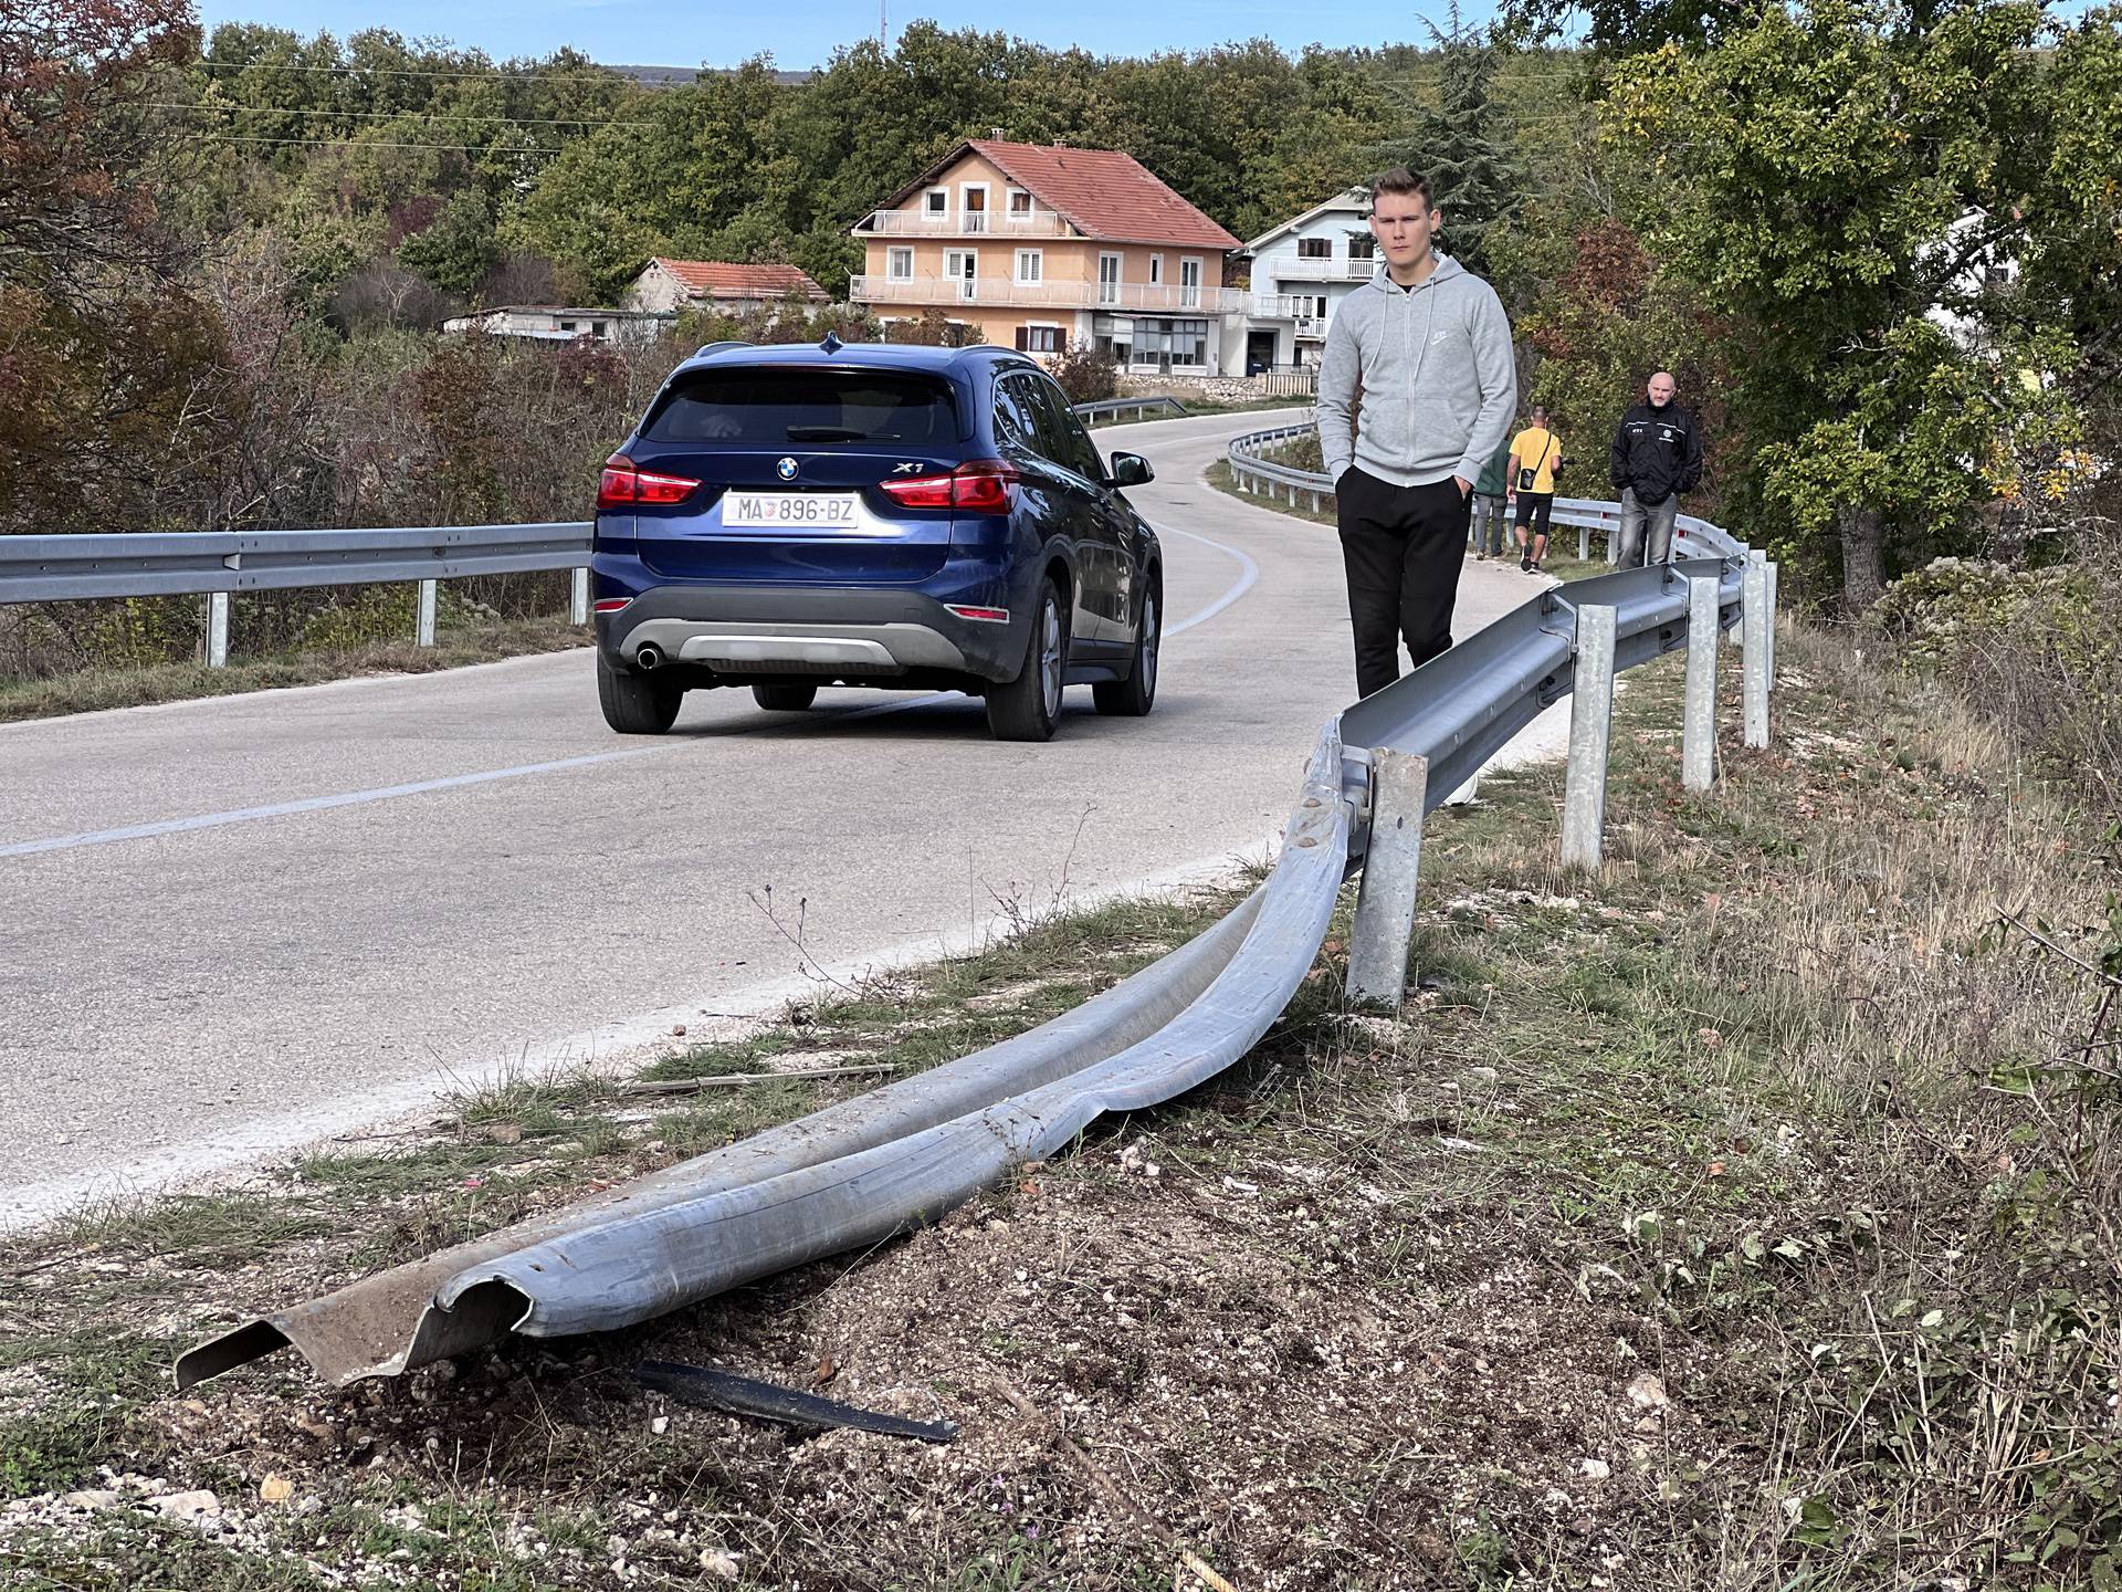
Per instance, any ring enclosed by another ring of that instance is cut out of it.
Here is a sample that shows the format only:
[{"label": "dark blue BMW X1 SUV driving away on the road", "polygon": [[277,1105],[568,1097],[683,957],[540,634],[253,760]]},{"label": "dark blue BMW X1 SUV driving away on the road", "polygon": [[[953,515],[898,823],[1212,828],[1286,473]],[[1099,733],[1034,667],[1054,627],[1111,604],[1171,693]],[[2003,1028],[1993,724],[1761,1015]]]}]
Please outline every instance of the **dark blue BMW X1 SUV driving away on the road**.
[{"label": "dark blue BMW X1 SUV driving away on the road", "polygon": [[590,573],[605,722],[688,690],[963,690],[1046,741],[1063,686],[1156,698],[1163,554],[1040,365],[1006,348],[709,344],[605,463]]}]

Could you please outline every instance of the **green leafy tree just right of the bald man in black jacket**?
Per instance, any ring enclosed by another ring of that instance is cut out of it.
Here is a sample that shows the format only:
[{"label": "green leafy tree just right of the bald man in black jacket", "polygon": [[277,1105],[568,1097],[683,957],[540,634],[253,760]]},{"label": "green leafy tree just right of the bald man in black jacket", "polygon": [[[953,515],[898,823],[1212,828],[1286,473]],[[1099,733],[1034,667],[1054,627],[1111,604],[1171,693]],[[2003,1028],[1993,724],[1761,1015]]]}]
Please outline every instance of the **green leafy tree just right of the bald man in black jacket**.
[{"label": "green leafy tree just right of the bald man in black jacket", "polygon": [[1608,98],[1608,134],[1664,180],[1645,238],[1761,329],[1740,382],[1768,444],[1761,492],[1797,520],[1785,546],[1840,563],[1850,609],[1878,599],[1897,539],[1935,537],[1984,497],[1969,416],[2007,431],[2029,403],[1990,380],[2003,350],[1961,346],[1933,316],[1965,297],[1978,250],[2016,233],[1995,151],[2037,117],[2041,28],[2033,2],[1925,23],[1806,0],[1717,49],[1625,62]]}]

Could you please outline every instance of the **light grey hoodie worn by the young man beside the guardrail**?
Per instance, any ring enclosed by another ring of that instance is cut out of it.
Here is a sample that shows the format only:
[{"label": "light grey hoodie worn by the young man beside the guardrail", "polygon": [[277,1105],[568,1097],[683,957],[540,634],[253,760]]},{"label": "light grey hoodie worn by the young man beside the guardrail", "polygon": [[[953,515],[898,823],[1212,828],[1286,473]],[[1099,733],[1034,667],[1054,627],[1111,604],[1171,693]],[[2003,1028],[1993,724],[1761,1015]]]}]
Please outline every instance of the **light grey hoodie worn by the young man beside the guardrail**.
[{"label": "light grey hoodie worn by the young man beside the guardrail", "polygon": [[[1350,410],[1362,397],[1358,435]],[[1326,478],[1352,463],[1394,486],[1481,480],[1517,414],[1511,321],[1496,289],[1449,255],[1422,287],[1381,265],[1335,310],[1320,359]]]}]

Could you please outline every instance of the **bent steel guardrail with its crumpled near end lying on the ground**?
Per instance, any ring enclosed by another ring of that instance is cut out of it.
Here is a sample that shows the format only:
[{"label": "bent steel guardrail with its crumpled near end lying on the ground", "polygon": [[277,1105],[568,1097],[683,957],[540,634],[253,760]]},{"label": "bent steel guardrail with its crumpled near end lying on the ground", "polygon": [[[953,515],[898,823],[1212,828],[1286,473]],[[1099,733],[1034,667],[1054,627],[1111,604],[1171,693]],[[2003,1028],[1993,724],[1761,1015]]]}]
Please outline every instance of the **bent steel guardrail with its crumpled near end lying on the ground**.
[{"label": "bent steel guardrail with its crumpled near end lying on the ground", "polygon": [[[1774,567],[1708,531],[1723,543],[1715,556],[1543,592],[1339,713],[1311,751],[1267,881],[1103,996],[974,1055],[212,1337],[178,1356],[178,1386],[282,1346],[344,1386],[509,1331],[628,1327],[934,1221],[1012,1165],[1057,1155],[1099,1117],[1205,1083],[1282,1015],[1373,841],[1381,858],[1409,836],[1420,843],[1422,815],[1547,705],[1577,692],[1583,707],[1611,692],[1613,669],[1674,647],[1708,650],[1715,662],[1719,635],[1744,618],[1766,741]],[[1749,696],[1749,741],[1753,730]],[[1379,779],[1396,760],[1420,760],[1426,779]],[[1572,758],[1572,788],[1577,777]],[[1413,868],[1398,866],[1405,851],[1394,860],[1379,866],[1390,885],[1364,881],[1356,925],[1356,949],[1384,947],[1388,974],[1394,936],[1405,966],[1413,917]],[[1396,1002],[1398,976],[1373,993]]]}]

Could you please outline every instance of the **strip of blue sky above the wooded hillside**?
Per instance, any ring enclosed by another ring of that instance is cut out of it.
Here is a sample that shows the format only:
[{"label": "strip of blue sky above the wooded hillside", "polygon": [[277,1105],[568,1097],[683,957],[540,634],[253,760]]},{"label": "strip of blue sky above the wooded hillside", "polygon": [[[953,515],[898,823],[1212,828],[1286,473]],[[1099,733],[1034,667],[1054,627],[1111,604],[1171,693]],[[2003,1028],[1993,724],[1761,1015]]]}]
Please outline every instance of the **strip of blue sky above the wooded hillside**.
[{"label": "strip of blue sky above the wooded hillside", "polygon": [[[1462,17],[1485,21],[1492,0],[1466,0]],[[1014,13],[1014,15],[1012,15]],[[1069,6],[1010,6],[972,0],[891,2],[891,34],[917,17],[944,28],[1002,28],[1040,45],[1082,45],[1097,55],[1148,55],[1207,49],[1239,38],[1271,38],[1288,51],[1305,45],[1426,42],[1420,15],[1445,17],[1443,0],[1420,6],[1375,0],[1076,0]],[[1008,19],[1004,19],[1008,17]],[[821,66],[836,45],[876,36],[876,0],[779,0],[777,4],[656,4],[656,0],[199,0],[199,19],[257,21],[310,36],[340,38],[390,28],[405,38],[446,38],[497,59],[550,55],[573,45],[598,62],[647,66],[736,66],[770,53],[781,68]]]}]

